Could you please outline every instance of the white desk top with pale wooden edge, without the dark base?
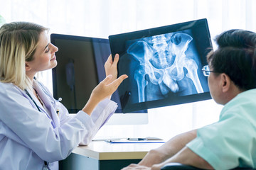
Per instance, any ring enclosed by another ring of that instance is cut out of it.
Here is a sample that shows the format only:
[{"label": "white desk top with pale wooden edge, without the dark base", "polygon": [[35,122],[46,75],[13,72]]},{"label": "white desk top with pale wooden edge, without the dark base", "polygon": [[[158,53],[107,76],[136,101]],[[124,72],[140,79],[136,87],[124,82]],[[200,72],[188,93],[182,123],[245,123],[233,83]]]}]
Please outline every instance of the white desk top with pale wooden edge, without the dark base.
[{"label": "white desk top with pale wooden edge, without the dark base", "polygon": [[79,146],[73,153],[98,160],[142,159],[149,150],[163,143],[108,143],[92,141],[87,146]]}]

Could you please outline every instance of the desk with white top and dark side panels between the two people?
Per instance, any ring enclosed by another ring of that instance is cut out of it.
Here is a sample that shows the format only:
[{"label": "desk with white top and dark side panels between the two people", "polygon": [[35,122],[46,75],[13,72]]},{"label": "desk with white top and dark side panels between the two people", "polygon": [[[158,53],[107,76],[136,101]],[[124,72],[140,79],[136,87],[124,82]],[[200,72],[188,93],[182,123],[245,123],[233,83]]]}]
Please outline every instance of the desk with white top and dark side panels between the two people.
[{"label": "desk with white top and dark side panels between the two people", "polygon": [[150,149],[163,143],[108,143],[93,141],[75,148],[70,156],[60,162],[60,170],[115,170],[138,163]]}]

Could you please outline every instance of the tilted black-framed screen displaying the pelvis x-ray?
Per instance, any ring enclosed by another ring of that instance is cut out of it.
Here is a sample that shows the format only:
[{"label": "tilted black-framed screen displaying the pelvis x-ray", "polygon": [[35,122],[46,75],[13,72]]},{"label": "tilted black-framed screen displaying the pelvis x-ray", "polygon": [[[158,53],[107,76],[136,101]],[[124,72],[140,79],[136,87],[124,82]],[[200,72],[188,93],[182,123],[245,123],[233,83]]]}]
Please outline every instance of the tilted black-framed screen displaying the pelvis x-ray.
[{"label": "tilted black-framed screen displaying the pelvis x-ray", "polygon": [[210,99],[201,68],[212,49],[206,19],[110,35],[119,54],[119,86],[124,113]]}]

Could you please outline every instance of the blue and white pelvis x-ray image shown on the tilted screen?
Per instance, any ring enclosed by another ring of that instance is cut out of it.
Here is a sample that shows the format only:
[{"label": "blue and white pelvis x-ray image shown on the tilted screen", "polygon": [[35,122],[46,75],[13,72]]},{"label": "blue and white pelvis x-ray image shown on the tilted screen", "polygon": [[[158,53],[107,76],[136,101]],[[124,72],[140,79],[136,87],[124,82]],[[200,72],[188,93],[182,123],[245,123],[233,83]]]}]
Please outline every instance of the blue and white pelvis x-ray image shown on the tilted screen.
[{"label": "blue and white pelvis x-ray image shown on the tilted screen", "polygon": [[126,49],[119,73],[129,76],[122,86],[130,89],[132,103],[199,94],[203,86],[208,89],[205,78],[201,84],[201,58],[190,30],[129,40]]}]

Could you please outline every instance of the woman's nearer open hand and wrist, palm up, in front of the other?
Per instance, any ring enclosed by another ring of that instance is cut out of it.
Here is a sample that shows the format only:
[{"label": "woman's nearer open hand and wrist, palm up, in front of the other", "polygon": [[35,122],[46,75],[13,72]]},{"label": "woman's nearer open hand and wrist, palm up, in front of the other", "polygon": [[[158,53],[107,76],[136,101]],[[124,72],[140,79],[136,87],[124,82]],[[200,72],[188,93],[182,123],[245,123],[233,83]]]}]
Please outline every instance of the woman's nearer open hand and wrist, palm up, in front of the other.
[{"label": "woman's nearer open hand and wrist, palm up, in front of the other", "polygon": [[122,83],[124,79],[126,79],[127,75],[122,75],[118,79],[112,81],[112,75],[108,75],[103,81],[98,84],[95,89],[92,90],[92,94],[85,104],[85,107],[82,108],[82,111],[87,113],[88,115],[92,114],[92,111],[97,106],[100,101],[111,96],[114,91],[117,90],[118,86]]}]

